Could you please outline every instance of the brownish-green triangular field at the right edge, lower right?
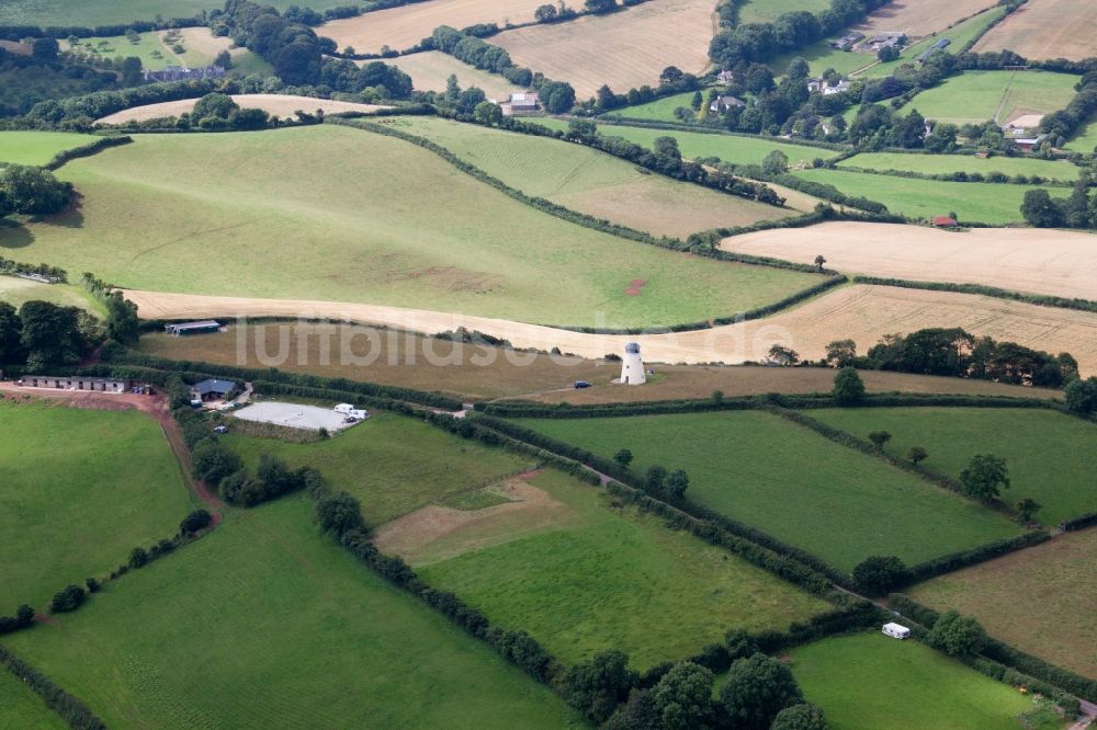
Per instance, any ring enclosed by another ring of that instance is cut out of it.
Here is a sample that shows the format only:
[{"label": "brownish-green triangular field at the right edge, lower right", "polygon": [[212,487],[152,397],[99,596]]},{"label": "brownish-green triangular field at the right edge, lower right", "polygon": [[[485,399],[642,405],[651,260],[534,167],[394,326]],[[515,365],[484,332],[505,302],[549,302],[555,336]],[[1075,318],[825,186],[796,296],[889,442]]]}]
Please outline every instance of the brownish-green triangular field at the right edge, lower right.
[{"label": "brownish-green triangular field at the right edge, lower right", "polygon": [[1020,552],[909,589],[925,605],[979,617],[987,632],[1084,676],[1097,676],[1097,529],[1059,535]]}]

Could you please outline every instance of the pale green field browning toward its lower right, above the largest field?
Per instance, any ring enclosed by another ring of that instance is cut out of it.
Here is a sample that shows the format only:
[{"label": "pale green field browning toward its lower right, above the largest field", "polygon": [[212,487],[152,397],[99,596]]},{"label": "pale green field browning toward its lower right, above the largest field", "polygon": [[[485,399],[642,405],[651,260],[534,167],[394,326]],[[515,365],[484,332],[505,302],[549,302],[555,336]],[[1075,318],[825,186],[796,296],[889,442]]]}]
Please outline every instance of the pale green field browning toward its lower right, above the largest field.
[{"label": "pale green field browning toward its lower right, above the largest field", "polygon": [[493,178],[596,218],[686,238],[793,212],[655,174],[589,147],[431,117],[394,126],[431,139]]}]

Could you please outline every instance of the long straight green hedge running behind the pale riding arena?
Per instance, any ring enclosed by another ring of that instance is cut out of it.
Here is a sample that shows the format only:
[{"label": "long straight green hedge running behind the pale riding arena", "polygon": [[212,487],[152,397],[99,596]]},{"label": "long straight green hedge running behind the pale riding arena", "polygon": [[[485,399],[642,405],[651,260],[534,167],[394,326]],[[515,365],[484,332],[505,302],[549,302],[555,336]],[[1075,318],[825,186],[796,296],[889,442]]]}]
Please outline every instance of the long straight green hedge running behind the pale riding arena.
[{"label": "long straight green hedge running behind the pale riding arena", "polygon": [[354,393],[380,400],[404,400],[410,403],[419,403],[431,408],[443,408],[451,411],[461,409],[461,401],[456,398],[448,398],[433,392],[414,390],[399,386],[376,385],[373,383],[360,383],[348,380],[347,378],[327,378],[318,375],[306,375],[298,373],[286,373],[278,368],[258,369],[250,367],[239,367],[236,365],[216,365],[201,361],[174,361],[155,355],[146,355],[133,351],[122,351],[112,353],[111,364],[134,365],[158,370],[184,370],[201,372],[211,377],[229,377],[239,380],[257,381],[264,384],[279,384],[281,386],[299,386],[303,388],[319,388],[337,390],[343,393]]}]

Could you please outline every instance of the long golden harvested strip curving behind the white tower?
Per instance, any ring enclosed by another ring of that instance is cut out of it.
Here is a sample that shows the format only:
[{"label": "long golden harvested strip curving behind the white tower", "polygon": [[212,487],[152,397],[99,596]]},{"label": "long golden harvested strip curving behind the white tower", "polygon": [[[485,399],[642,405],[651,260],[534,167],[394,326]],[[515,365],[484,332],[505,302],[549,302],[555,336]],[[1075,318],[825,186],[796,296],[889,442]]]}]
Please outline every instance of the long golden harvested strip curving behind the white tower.
[{"label": "long golden harvested strip curving behind the white tower", "polygon": [[880,338],[926,327],[962,327],[976,335],[1009,340],[1053,353],[1070,352],[1083,374],[1097,374],[1097,315],[1004,301],[951,292],[889,286],[844,287],[773,317],[690,332],[590,334],[540,324],[421,309],[352,303],[248,299],[131,290],[145,319],[204,317],[329,318],[412,332],[445,332],[464,327],[509,340],[516,347],[552,350],[580,357],[620,353],[638,342],[654,363],[743,363],[760,361],[773,344],[818,360],[827,343],[851,339],[863,352]]}]

